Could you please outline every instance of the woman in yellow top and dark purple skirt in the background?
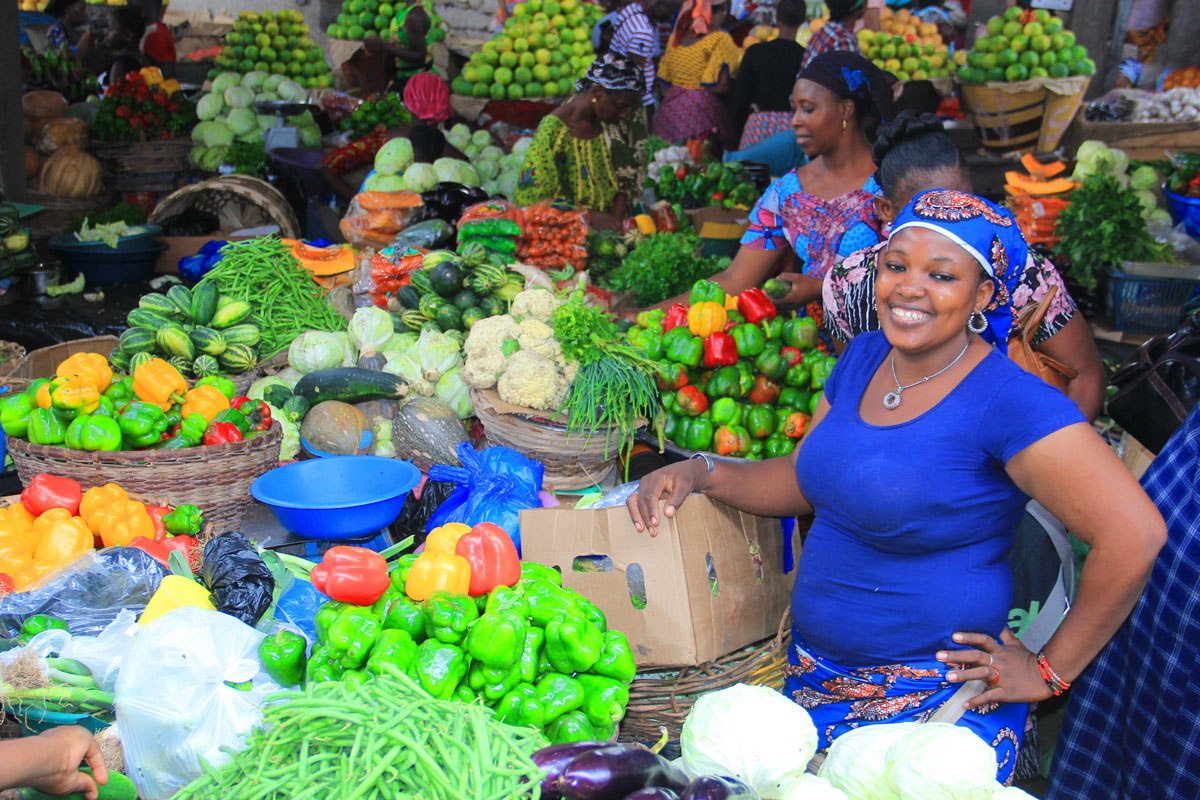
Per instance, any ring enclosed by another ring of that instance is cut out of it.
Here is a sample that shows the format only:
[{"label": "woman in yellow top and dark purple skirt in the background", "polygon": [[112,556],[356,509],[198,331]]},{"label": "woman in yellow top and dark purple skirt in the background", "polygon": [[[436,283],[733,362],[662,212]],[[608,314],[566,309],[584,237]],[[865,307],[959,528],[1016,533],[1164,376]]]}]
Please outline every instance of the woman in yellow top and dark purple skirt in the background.
[{"label": "woman in yellow top and dark purple skirt in the background", "polygon": [[738,48],[721,30],[727,0],[686,0],[659,61],[670,84],[654,115],[654,134],[667,142],[716,139],[733,146],[733,122],[721,96],[733,86]]}]

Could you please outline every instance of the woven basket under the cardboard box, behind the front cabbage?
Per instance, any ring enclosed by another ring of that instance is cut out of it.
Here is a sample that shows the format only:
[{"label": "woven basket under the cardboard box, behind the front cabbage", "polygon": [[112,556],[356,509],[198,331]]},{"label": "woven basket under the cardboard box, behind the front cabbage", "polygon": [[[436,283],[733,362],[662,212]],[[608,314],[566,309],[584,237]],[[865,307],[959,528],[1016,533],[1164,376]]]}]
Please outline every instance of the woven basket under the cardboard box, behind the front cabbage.
[{"label": "woven basket under the cardboard box, behind the front cabbage", "polygon": [[734,684],[782,688],[787,649],[791,646],[792,614],[787,610],[779,620],[779,631],[769,639],[696,667],[638,670],[629,687],[629,705],[625,718],[620,721],[620,741],[653,745],[666,728],[668,741],[662,754],[677,758],[683,721],[701,694]]}]

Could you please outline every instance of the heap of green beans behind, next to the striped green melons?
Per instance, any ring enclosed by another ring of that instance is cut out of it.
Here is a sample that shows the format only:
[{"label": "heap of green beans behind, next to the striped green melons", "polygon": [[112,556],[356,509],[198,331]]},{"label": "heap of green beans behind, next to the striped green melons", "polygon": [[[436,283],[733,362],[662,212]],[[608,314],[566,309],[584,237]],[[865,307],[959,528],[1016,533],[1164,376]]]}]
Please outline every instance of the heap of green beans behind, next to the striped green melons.
[{"label": "heap of green beans behind, next to the striped green melons", "polygon": [[325,302],[325,293],[313,283],[312,273],[276,236],[229,242],[202,283],[205,281],[216,283],[222,295],[251,305],[252,319],[263,336],[259,349],[264,359],[290,345],[305,331],[346,330],[346,318]]}]

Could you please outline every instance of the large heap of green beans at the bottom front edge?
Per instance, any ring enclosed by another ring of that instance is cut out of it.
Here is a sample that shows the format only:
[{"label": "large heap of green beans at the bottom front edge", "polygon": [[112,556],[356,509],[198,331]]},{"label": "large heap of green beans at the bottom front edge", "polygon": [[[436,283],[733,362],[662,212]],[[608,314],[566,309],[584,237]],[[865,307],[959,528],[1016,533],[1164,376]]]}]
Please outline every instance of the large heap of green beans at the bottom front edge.
[{"label": "large heap of green beans at the bottom front edge", "polygon": [[541,796],[533,728],[430,697],[410,678],[310,684],[268,700],[262,726],[173,800],[517,800]]}]

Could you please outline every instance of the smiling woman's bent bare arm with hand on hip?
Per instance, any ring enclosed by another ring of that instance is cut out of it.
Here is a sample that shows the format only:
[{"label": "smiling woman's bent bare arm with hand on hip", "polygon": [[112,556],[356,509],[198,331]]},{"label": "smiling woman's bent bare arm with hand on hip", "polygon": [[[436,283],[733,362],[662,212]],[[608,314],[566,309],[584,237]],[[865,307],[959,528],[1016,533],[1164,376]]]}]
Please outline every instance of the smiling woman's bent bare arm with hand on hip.
[{"label": "smiling woman's bent bare arm with hand on hip", "polygon": [[[1022,492],[1091,546],[1070,613],[1043,648],[1050,667],[1070,682],[1138,602],[1166,541],[1166,524],[1133,474],[1085,422],[1039,439],[1013,456],[1006,469]],[[998,672],[996,686],[968,700],[967,706],[1050,697],[1038,672],[1037,654],[1010,632],[1004,632],[1003,645],[996,645],[994,636],[955,633],[955,642],[979,649],[938,654],[942,661],[967,667],[948,673],[952,682],[989,680]]]}]

